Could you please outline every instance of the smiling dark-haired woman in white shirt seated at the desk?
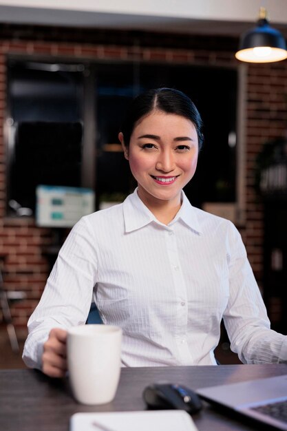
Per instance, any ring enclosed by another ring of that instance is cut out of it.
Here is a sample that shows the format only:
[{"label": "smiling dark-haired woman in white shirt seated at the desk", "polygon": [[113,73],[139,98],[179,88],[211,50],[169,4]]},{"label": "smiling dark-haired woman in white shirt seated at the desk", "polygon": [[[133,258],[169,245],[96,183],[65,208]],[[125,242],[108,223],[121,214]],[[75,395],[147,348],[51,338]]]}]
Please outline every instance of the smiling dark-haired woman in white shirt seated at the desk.
[{"label": "smiling dark-haired woman in white shirt seated at the desk", "polygon": [[28,322],[25,363],[65,375],[66,330],[85,323],[93,295],[104,324],[123,328],[124,366],[216,364],[222,318],[242,362],[286,362],[287,337],[270,330],[240,234],[182,191],[202,145],[195,105],[150,90],[119,140],[138,188],[72,229]]}]

